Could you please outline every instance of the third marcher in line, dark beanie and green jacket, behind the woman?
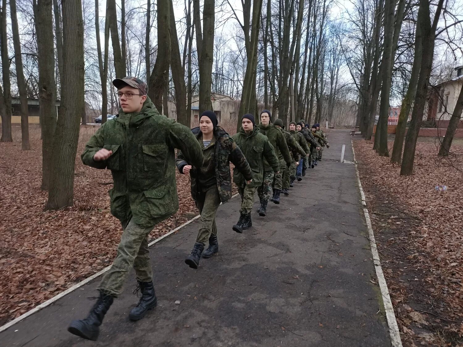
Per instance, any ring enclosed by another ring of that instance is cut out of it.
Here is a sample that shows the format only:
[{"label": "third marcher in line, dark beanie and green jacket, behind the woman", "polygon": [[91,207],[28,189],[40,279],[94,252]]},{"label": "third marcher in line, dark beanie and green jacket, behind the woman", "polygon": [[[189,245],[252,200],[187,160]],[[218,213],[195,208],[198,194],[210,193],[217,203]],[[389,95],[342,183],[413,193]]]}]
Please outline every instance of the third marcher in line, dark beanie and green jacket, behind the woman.
[{"label": "third marcher in line, dark beanie and green jacket, behind the woman", "polygon": [[241,196],[241,209],[238,223],[233,225],[233,230],[242,233],[244,229],[252,226],[251,210],[254,202],[254,193],[257,187],[262,186],[264,161],[267,162],[275,173],[278,173],[279,161],[275,155],[272,144],[267,136],[260,133],[259,127],[256,126],[254,116],[245,114],[241,118],[242,127],[238,134],[232,138],[243,152],[252,171],[252,182],[246,184],[243,174],[237,168],[233,169],[233,182],[238,186],[238,192]]}]

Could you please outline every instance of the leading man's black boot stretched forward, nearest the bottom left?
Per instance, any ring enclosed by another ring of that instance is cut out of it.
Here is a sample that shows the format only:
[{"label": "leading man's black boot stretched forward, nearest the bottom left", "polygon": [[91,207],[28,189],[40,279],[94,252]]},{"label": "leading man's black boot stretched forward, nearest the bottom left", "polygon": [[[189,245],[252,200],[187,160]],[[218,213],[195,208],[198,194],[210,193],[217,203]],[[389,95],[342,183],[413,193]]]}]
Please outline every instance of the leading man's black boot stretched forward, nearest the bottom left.
[{"label": "leading man's black boot stretched forward, nearest the bottom left", "polygon": [[96,341],[100,334],[100,325],[109,307],[113,304],[113,296],[100,292],[100,297],[90,310],[87,318],[72,321],[68,327],[71,334],[87,340]]}]

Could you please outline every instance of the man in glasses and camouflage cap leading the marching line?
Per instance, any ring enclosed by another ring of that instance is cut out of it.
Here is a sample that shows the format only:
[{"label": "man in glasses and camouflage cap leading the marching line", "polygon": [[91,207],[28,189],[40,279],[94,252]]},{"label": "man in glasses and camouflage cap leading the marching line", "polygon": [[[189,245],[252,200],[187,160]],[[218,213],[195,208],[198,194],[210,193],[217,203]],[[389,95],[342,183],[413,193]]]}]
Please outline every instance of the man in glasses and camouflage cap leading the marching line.
[{"label": "man in glasses and camouflage cap leading the marching line", "polygon": [[148,87],[137,77],[116,79],[121,108],[88,140],[81,155],[85,165],[109,169],[114,187],[109,191],[111,213],[124,230],[116,259],[101,280],[99,298],[87,318],[71,322],[68,331],[97,340],[99,327],[133,266],[142,297],[129,318],[143,318],[156,306],[148,235],[157,223],[179,207],[175,182],[175,148],[194,166],[203,155],[191,131],[173,119],[159,115],[147,96]]}]

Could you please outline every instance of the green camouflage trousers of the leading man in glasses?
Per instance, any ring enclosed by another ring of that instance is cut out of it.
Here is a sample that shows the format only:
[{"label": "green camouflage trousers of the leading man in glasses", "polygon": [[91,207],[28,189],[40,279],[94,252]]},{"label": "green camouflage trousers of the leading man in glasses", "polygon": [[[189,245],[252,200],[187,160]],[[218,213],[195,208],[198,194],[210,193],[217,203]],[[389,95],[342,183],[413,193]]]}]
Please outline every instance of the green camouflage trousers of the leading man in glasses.
[{"label": "green camouflage trousers of the leading man in glasses", "polygon": [[114,297],[120,295],[132,266],[138,281],[153,280],[148,249],[148,235],[153,229],[154,227],[142,228],[133,218],[130,220],[122,233],[116,259],[101,279],[99,291]]}]

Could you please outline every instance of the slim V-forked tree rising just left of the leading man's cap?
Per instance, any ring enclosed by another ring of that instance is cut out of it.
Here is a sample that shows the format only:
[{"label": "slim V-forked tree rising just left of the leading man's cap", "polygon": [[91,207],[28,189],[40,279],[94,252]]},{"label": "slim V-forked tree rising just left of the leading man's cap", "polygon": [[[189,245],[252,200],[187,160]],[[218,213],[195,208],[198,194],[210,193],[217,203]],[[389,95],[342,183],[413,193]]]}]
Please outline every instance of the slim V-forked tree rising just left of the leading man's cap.
[{"label": "slim V-forked tree rising just left of the leading man's cap", "polygon": [[96,34],[96,50],[98,54],[98,70],[100,71],[101,81],[101,124],[106,122],[108,116],[108,50],[109,50],[109,17],[105,18],[105,50],[104,56],[101,51],[100,41],[100,15],[99,15],[99,1],[95,0],[95,34]]}]

